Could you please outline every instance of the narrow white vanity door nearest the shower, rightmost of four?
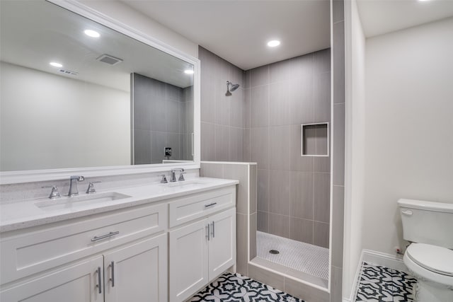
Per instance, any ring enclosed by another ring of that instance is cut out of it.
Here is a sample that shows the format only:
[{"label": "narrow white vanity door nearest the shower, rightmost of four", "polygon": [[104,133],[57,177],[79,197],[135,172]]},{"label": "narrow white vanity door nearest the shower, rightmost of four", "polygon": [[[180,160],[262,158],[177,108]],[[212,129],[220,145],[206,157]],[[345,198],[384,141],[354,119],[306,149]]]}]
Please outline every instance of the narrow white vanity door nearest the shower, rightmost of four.
[{"label": "narrow white vanity door nearest the shower, rightmost of four", "polygon": [[236,263],[236,209],[210,216],[209,279]]}]

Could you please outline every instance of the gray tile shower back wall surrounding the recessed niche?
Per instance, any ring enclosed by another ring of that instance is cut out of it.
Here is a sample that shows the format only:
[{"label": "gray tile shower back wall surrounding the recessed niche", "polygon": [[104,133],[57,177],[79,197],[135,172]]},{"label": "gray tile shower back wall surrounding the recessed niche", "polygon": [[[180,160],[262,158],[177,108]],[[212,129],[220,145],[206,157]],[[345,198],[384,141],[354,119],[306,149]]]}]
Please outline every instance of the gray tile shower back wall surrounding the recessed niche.
[{"label": "gray tile shower back wall surrounding the recessed niche", "polygon": [[331,51],[248,70],[245,88],[258,230],[328,248],[330,158],[301,156],[300,125],[331,120]]}]

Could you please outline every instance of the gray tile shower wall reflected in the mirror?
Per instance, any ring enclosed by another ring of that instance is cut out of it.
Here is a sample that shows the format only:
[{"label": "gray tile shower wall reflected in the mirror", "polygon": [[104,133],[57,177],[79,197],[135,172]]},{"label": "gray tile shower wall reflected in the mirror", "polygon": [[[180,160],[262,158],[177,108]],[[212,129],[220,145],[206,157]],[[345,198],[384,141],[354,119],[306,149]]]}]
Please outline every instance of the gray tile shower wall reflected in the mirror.
[{"label": "gray tile shower wall reflected in the mirror", "polygon": [[192,160],[193,88],[131,74],[134,92],[134,163],[162,163],[164,148],[172,148],[168,159]]}]

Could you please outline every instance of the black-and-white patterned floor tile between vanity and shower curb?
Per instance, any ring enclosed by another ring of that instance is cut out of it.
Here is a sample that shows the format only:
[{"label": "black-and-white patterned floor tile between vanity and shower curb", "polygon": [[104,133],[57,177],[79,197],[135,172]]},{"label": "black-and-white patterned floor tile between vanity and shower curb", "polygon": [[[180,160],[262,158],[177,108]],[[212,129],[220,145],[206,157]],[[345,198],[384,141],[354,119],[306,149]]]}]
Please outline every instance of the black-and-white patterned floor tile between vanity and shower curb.
[{"label": "black-and-white patterned floor tile between vanity and shower curb", "polygon": [[304,302],[241,274],[226,272],[190,298],[190,302]]}]

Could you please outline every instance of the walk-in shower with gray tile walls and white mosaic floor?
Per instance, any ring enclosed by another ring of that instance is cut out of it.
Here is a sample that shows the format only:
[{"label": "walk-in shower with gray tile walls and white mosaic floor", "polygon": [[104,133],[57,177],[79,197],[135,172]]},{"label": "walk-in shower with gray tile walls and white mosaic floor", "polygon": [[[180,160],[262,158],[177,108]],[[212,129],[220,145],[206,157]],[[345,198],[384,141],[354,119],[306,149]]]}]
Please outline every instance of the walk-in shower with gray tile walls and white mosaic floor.
[{"label": "walk-in shower with gray tile walls and white mosaic floor", "polygon": [[[200,60],[207,77],[201,95],[202,161],[257,163],[258,257],[292,268],[268,257],[266,248],[275,240],[283,244],[282,259],[297,254],[286,249],[293,243],[295,250],[315,249],[298,258],[315,265],[295,270],[324,279],[314,283],[326,286],[331,161],[301,156],[301,124],[331,122],[330,49],[248,71],[202,47]],[[226,97],[226,81],[241,88]],[[313,134],[315,141],[326,136],[325,131]]]}]

